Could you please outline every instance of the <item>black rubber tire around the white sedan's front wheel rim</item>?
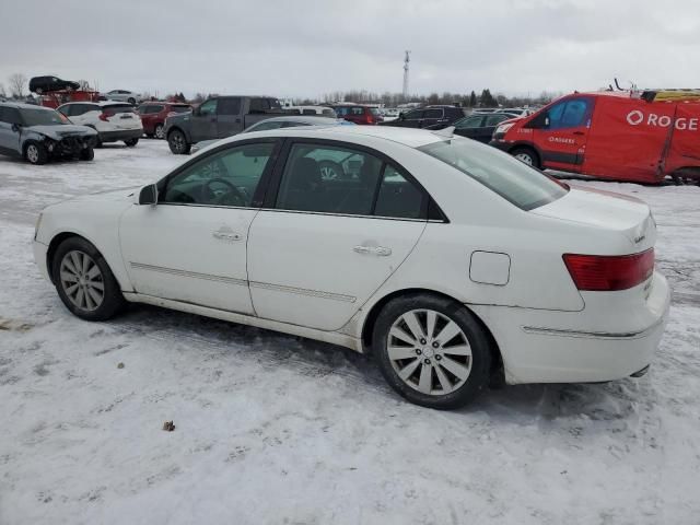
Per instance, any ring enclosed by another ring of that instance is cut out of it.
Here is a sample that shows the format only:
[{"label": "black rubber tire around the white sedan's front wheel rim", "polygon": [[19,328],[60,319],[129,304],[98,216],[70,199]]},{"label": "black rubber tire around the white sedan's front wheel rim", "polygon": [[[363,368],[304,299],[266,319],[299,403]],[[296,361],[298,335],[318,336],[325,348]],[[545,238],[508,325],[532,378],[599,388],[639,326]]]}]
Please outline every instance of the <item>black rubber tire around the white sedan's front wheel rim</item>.
[{"label": "black rubber tire around the white sedan's front wheel rim", "polygon": [[[70,290],[69,282],[73,281],[63,280],[61,276],[61,265],[67,256],[69,258],[72,257],[69,255],[72,253],[88,255],[100,269],[100,280],[97,282],[102,283],[104,291],[102,302],[94,310],[81,308],[68,295],[67,289]],[[56,249],[50,265],[58,296],[61,298],[66,307],[77,317],[85,320],[106,320],[117,314],[126,304],[119,283],[115,279],[114,273],[112,273],[104,257],[97,248],[84,238],[75,236],[63,241]]]}]

